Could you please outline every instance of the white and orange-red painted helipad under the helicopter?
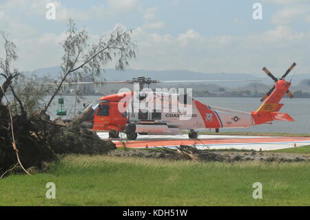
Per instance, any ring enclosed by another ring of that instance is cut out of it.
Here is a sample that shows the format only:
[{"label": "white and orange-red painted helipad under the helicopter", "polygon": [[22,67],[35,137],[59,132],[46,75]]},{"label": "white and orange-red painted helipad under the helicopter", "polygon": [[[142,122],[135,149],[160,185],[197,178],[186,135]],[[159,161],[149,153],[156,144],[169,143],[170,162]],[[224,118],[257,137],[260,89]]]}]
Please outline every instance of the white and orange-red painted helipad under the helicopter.
[{"label": "white and orange-red painted helipad under the helicopter", "polygon": [[[107,132],[97,133],[101,139],[109,139]],[[198,139],[189,139],[187,134],[180,135],[138,135],[134,141],[127,140],[125,134],[120,139],[111,139],[117,147],[126,148],[175,148],[180,145],[196,146],[205,149],[247,149],[247,150],[276,150],[293,148],[294,146],[310,145],[310,137],[257,137],[257,136],[231,136],[231,135],[205,135],[200,134]]]}]

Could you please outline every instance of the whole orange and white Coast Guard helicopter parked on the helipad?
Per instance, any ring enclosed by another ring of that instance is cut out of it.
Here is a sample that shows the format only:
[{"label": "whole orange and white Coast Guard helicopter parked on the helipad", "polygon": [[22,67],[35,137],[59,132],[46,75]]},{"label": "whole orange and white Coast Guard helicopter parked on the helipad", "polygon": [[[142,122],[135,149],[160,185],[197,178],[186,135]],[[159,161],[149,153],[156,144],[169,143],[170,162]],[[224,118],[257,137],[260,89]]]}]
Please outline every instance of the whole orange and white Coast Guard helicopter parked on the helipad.
[{"label": "whole orange and white Coast Guard helicopter parked on the helipad", "polygon": [[[271,123],[274,120],[294,121],[289,114],[278,111],[283,106],[279,102],[285,94],[293,97],[289,91],[291,82],[285,81],[285,77],[295,66],[296,63],[293,63],[280,79],[274,77],[267,68],[262,69],[275,83],[260,100],[262,105],[252,112],[205,105],[184,93],[143,91],[144,84],[176,81],[156,81],[138,77],[132,81],[114,82],[138,83],[139,90],[101,97],[99,103],[92,106],[93,129],[109,131],[111,138],[117,138],[119,132],[124,132],[127,139],[131,140],[136,139],[138,134],[174,135],[179,134],[181,130],[189,130],[189,138],[196,139],[198,133],[195,130],[202,128],[215,129],[218,132],[220,128],[244,128]],[[182,108],[179,108],[180,106]]]}]

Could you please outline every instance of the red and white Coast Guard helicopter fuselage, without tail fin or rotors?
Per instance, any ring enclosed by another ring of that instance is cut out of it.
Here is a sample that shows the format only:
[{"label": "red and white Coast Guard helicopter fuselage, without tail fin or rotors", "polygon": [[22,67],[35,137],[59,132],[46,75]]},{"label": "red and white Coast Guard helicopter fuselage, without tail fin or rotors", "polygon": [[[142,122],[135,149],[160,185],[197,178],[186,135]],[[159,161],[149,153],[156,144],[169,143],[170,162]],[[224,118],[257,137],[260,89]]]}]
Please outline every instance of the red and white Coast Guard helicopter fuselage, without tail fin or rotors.
[{"label": "red and white Coast Guard helicopter fuselage, without tail fin or rotors", "polygon": [[[135,95],[138,96],[138,103],[133,101]],[[129,92],[101,97],[100,106],[94,114],[94,129],[128,132],[126,126],[134,125],[134,132],[138,133],[178,134],[180,130],[243,128],[255,125],[251,113],[214,110],[192,97],[181,100],[181,96],[183,94],[149,92],[144,93],[141,98],[140,94]],[[147,108],[137,110],[134,108],[136,104]],[[179,106],[183,108],[176,108]]]}]

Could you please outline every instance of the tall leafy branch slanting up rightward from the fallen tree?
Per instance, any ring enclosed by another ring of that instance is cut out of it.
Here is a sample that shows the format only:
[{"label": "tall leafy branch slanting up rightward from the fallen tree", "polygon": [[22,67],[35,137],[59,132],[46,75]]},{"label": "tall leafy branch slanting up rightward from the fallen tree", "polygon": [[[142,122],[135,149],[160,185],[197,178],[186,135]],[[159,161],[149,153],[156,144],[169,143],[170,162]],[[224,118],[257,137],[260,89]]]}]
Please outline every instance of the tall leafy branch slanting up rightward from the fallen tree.
[{"label": "tall leafy branch slanting up rightward from the fallen tree", "polygon": [[136,58],[136,43],[131,38],[132,30],[115,28],[108,34],[103,34],[97,43],[91,46],[87,43],[89,36],[85,29],[78,31],[72,19],[69,20],[68,37],[61,44],[63,57],[61,63],[61,81],[56,86],[44,112],[63,86],[64,82],[72,82],[83,72],[92,77],[94,81],[103,79],[101,70],[113,59],[116,60],[116,70],[124,70],[129,66],[129,59]]}]

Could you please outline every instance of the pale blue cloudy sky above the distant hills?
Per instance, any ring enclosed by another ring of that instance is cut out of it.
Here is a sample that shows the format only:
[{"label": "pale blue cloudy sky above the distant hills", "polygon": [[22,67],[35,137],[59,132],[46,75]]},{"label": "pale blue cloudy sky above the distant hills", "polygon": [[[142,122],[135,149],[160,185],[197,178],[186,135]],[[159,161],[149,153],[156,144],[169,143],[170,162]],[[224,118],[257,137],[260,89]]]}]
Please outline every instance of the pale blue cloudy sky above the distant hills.
[{"label": "pale blue cloudy sky above the distant hills", "polygon": [[[48,3],[56,19],[46,18]],[[254,3],[262,19],[254,19]],[[295,61],[296,74],[310,73],[310,0],[0,0],[0,30],[17,45],[14,66],[59,66],[69,18],[90,41],[117,26],[132,29],[133,69],[265,77],[266,66],[280,77]]]}]

